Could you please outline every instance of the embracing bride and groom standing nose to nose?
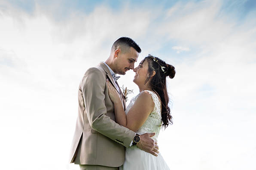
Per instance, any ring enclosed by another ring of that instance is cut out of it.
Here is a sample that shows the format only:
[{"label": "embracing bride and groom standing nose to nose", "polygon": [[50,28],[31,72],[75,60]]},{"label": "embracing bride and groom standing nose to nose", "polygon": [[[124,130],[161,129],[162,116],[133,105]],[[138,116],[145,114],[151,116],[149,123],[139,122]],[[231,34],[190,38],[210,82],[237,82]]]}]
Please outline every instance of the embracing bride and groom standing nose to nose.
[{"label": "embracing bride and groom standing nose to nose", "polygon": [[[134,68],[140,52],[132,39],[121,37],[105,62],[85,72],[70,153],[70,163],[81,170],[169,170],[157,137],[172,123],[166,78],[174,78],[175,68],[150,54]],[[126,107],[116,74],[130,69],[140,93]]]}]

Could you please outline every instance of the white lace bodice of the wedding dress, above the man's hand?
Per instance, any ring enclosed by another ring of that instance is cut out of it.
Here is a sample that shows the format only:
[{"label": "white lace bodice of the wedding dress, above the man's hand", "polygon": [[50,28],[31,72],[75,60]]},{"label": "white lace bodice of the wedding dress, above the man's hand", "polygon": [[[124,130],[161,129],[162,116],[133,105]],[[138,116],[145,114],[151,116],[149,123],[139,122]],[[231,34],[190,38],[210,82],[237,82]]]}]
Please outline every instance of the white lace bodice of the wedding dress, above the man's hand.
[{"label": "white lace bodice of the wedding dress, above the man's hand", "polygon": [[[155,106],[154,110],[149,114],[148,118],[146,119],[146,122],[140,127],[140,129],[136,132],[137,134],[144,134],[144,133],[153,133],[155,132],[155,136],[152,137],[154,140],[157,140],[159,131],[161,129],[162,125],[162,116],[161,116],[161,103],[158,99],[158,96],[149,90],[144,90],[142,92],[149,92],[151,95]],[[138,95],[136,95],[134,98],[131,99],[130,104],[127,106],[125,113],[127,114],[128,111],[131,109],[131,107],[134,105],[135,101],[137,100],[138,96],[142,93],[140,92]]]}]

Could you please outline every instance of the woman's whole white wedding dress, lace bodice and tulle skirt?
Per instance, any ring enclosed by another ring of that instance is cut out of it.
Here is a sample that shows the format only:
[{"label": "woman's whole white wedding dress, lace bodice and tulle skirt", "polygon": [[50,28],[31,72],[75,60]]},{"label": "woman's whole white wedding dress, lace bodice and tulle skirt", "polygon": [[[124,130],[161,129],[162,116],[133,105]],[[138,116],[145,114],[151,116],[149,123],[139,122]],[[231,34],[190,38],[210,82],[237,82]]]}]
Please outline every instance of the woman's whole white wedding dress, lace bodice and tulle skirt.
[{"label": "woman's whole white wedding dress, lace bodice and tulle skirt", "polygon": [[[146,122],[137,131],[137,134],[155,132],[155,136],[152,138],[154,140],[157,140],[162,125],[161,103],[158,99],[158,96],[154,92],[151,92],[149,90],[145,91],[149,92],[149,94],[152,96],[155,107],[152,113],[149,114]],[[141,92],[131,99],[130,104],[125,110],[126,114],[131,109],[140,94]],[[148,152],[139,149],[137,146],[131,146],[126,148],[125,163],[122,165],[122,167],[119,168],[119,170],[170,170],[170,168],[168,167],[160,153],[156,157]]]}]

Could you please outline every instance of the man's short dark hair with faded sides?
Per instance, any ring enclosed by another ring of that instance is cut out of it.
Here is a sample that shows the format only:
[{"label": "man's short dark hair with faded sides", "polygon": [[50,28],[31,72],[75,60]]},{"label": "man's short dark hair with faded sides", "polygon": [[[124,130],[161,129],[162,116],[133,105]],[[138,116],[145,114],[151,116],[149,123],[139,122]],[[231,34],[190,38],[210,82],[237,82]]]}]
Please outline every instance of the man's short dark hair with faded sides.
[{"label": "man's short dark hair with faded sides", "polygon": [[134,48],[138,53],[141,52],[141,49],[139,47],[139,45],[137,45],[136,42],[134,42],[133,39],[129,38],[129,37],[121,37],[119,39],[117,39],[114,44],[112,45],[111,50],[116,50],[119,46],[127,46],[127,47],[132,47]]}]

